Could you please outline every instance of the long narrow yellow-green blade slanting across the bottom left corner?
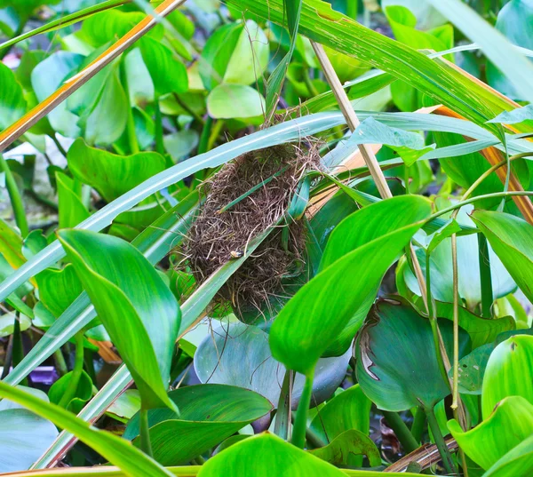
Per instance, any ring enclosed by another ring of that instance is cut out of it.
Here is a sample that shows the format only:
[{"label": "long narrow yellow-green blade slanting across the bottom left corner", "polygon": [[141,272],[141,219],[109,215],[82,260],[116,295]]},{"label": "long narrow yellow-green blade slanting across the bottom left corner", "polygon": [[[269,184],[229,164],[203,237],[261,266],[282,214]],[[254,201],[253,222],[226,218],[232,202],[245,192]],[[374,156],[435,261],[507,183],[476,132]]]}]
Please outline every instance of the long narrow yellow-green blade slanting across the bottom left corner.
[{"label": "long narrow yellow-green blade slanting across the bottom left corner", "polygon": [[172,473],[166,471],[153,459],[147,457],[139,449],[123,441],[107,431],[100,431],[96,427],[84,422],[67,410],[46,403],[35,396],[24,393],[19,389],[6,385],[0,381],[0,396],[10,401],[18,402],[37,416],[51,420],[55,425],[63,427],[70,433],[74,433],[80,441],[83,441],[101,456],[114,465],[119,466],[129,477],[166,476]]}]

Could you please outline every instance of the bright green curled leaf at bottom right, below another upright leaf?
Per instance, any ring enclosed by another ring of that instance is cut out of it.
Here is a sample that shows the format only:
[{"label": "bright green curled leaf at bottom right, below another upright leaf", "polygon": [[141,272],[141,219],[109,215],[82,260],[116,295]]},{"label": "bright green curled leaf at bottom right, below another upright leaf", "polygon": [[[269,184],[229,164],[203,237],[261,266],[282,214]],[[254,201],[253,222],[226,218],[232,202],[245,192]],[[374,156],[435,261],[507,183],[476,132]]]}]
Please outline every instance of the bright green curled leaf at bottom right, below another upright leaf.
[{"label": "bright green curled leaf at bottom right, below another upright leaf", "polygon": [[[449,421],[448,427],[465,454],[488,470],[533,434],[533,404],[521,396],[509,396],[470,431],[464,432],[456,420]],[[512,432],[506,432],[511,429]]]}]

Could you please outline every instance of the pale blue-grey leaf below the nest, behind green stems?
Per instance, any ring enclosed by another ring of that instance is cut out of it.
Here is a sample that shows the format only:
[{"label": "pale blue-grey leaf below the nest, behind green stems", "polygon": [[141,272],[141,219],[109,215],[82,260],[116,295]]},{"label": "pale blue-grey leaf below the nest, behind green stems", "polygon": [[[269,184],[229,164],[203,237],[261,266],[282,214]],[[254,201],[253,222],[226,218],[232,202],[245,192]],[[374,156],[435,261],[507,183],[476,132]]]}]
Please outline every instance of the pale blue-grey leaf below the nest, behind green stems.
[{"label": "pale blue-grey leaf below the nest, behind green stems", "polygon": [[[315,403],[329,399],[346,375],[350,359],[347,352],[338,358],[318,362],[314,376]],[[268,335],[258,327],[241,322],[215,329],[203,339],[195,353],[195,371],[203,383],[240,386],[262,394],[277,405],[285,368],[272,357]],[[296,409],[304,378],[296,376],[291,407]]]}]

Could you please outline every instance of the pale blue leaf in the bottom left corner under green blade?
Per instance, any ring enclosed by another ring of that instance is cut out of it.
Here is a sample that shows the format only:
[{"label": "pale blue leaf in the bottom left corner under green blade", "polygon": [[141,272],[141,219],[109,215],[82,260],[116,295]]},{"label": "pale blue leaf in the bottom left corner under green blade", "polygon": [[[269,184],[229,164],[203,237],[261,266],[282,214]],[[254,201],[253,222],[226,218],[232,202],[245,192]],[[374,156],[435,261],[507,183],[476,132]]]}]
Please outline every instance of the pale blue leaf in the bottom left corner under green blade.
[{"label": "pale blue leaf in the bottom left corner under green blade", "polygon": [[0,473],[29,469],[58,435],[55,425],[28,409],[0,410],[0,420]]}]

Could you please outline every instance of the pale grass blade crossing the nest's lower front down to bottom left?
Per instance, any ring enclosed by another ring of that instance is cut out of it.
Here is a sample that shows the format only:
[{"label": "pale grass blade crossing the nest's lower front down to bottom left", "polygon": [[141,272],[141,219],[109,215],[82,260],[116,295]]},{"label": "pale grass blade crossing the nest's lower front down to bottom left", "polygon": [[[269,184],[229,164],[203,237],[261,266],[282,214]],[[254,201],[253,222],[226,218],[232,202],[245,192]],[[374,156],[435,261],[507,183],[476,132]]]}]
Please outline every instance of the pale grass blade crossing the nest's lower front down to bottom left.
[{"label": "pale grass blade crossing the nest's lower front down to bottom left", "polygon": [[[189,330],[198,318],[201,318],[203,311],[211,303],[212,298],[215,297],[222,285],[227,282],[227,279],[235,273],[235,271],[242,266],[244,261],[251,256],[254,250],[259,247],[259,244],[265,240],[267,235],[273,229],[267,230],[267,232],[259,235],[253,240],[250,246],[247,248],[242,258],[235,260],[229,260],[227,264],[220,266],[219,269],[200,285],[195,292],[187,298],[185,303],[180,306],[181,308],[181,326],[179,327],[179,337],[181,337],[187,330]],[[84,419],[84,421],[94,422],[99,416],[101,416],[105,410],[115,401],[115,399],[123,393],[123,391],[131,386],[131,374],[127,370],[124,364],[116,370],[115,374],[109,378],[106,385],[102,387],[96,396],[85,406],[84,409],[78,414],[78,417]],[[70,449],[75,443],[77,438],[71,433],[62,432],[45,454],[40,457],[36,464],[33,465],[34,469],[43,469],[45,467],[54,465],[61,456]]]}]

